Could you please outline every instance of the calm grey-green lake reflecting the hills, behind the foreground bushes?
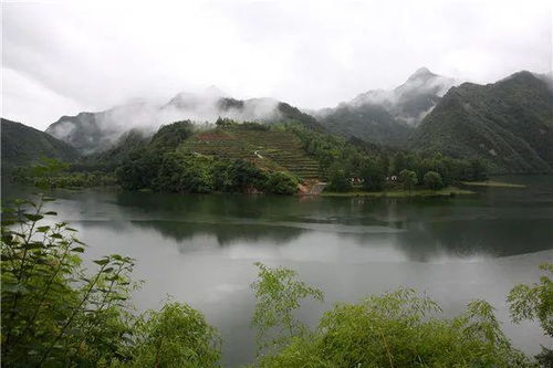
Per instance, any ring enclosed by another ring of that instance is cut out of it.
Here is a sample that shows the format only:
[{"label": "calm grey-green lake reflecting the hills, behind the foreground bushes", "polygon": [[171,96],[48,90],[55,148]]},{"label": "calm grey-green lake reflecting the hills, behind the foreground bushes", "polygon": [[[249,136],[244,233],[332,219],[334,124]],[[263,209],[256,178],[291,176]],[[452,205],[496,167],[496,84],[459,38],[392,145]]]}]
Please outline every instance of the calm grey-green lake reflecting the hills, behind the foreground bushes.
[{"label": "calm grey-green lake reflecting the hills, behind the foreground bushes", "polygon": [[[292,267],[324,291],[324,304],[300,311],[310,324],[335,302],[408,286],[427,292],[446,315],[487,299],[515,346],[535,354],[551,340],[534,324],[511,325],[505,296],[553,261],[553,177],[499,180],[528,188],[411,199],[56,190],[52,208],[79,229],[87,257],[137,260],[140,309],[168,295],[201,309],[223,337],[228,367],[254,358],[249,285],[257,261]],[[2,199],[32,190],[4,185]]]}]

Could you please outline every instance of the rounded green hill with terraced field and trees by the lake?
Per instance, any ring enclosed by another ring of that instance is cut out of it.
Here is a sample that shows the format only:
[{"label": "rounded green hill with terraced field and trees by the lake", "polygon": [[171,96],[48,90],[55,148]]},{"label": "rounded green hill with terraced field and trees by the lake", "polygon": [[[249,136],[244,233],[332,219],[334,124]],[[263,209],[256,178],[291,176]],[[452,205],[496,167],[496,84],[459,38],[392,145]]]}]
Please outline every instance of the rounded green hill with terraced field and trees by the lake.
[{"label": "rounded green hill with terraced field and trees by the lake", "polygon": [[164,126],[121,160],[116,176],[134,190],[292,194],[299,178],[313,179],[317,172],[319,165],[294,135],[219,119],[209,130],[197,130],[190,122]]}]

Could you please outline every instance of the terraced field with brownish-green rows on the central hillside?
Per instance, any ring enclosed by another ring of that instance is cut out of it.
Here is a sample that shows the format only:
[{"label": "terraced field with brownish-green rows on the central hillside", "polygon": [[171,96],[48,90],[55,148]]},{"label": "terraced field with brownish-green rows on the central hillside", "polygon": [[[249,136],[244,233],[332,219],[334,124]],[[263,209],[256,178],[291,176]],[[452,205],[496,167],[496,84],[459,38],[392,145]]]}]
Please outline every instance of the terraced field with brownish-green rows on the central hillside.
[{"label": "terraced field with brownish-green rows on the central hillside", "polygon": [[187,139],[180,149],[246,159],[262,168],[291,171],[304,180],[320,177],[319,162],[309,157],[300,139],[288,132],[219,127]]}]

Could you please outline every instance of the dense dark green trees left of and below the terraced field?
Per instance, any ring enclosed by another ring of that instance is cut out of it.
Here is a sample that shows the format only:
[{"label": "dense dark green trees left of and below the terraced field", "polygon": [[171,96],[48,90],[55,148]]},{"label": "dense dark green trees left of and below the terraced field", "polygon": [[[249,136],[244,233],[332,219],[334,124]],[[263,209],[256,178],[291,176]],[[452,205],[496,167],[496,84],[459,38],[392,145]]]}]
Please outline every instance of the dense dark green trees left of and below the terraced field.
[{"label": "dense dark green trees left of and below the terraced field", "polygon": [[[217,125],[268,129],[267,125],[259,123],[239,125],[227,118],[219,118]],[[131,132],[122,137],[121,145],[77,165],[44,159],[38,165],[18,169],[14,178],[49,188],[118,185],[129,190],[177,193],[298,192],[298,178],[289,172],[262,170],[242,159],[180,151],[179,145],[196,132],[197,127],[189,120],[163,126],[149,140]]]}]

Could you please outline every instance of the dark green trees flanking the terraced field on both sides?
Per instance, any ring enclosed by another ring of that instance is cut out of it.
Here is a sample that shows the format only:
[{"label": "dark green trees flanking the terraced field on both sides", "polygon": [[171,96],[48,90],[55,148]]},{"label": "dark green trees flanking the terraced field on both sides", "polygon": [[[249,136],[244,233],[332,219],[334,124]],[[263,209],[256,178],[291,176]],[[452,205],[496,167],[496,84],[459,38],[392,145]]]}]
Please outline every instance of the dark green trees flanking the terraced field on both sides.
[{"label": "dark green trees flanking the terraced field on both sides", "polygon": [[[216,126],[233,129],[284,129],[296,135],[303,149],[320,166],[328,190],[382,191],[426,187],[439,190],[460,181],[484,180],[487,165],[480,159],[456,159],[439,153],[411,153],[346,140],[298,123],[275,125],[237,123],[219,118]],[[119,144],[64,168],[63,172],[34,175],[36,166],[15,171],[20,181],[49,187],[121,185],[123,188],[178,193],[270,192],[291,194],[299,179],[289,172],[260,169],[253,162],[222,156],[204,156],[179,149],[198,132],[189,120],[165,125],[149,139],[139,132],[124,135]],[[40,165],[39,165],[40,166]]]}]

